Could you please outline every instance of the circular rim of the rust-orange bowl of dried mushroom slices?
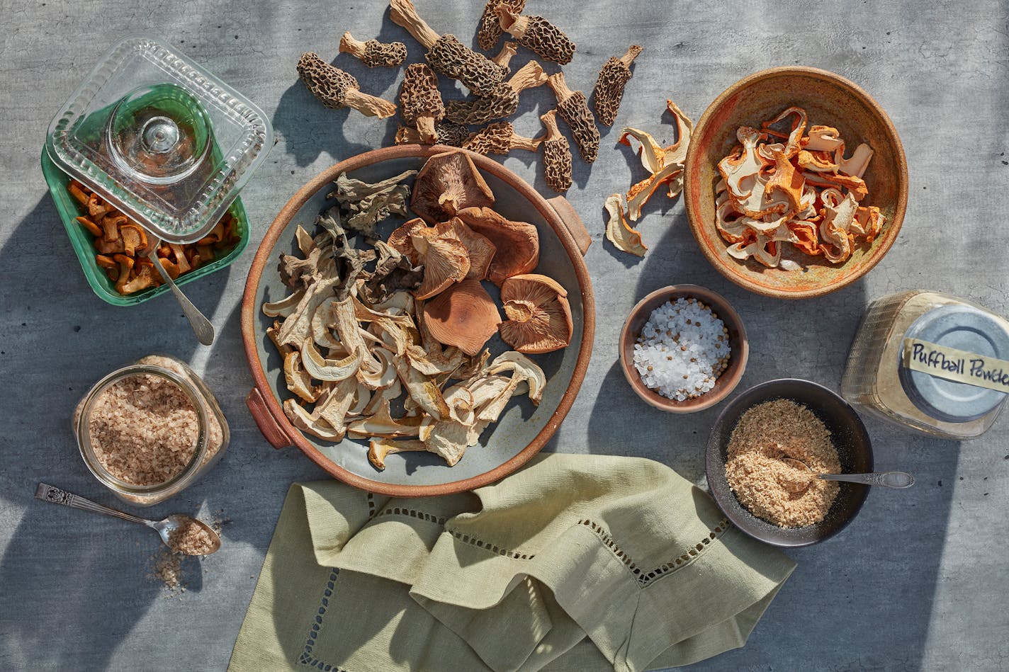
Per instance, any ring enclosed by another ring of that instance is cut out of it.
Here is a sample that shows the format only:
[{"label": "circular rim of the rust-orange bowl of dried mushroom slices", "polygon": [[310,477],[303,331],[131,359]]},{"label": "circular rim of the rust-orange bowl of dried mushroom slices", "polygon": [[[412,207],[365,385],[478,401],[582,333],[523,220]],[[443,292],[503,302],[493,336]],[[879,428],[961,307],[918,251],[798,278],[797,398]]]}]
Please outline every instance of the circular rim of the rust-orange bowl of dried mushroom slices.
[{"label": "circular rim of the rust-orange bowl of dried mushroom slices", "polygon": [[683,190],[684,207],[687,213],[687,221],[690,224],[690,232],[693,234],[694,240],[697,241],[697,246],[700,248],[701,253],[704,258],[714,266],[714,269],[719,273],[724,275],[727,279],[732,281],[736,285],[765,297],[771,297],[772,299],[812,299],[813,297],[822,297],[824,295],[830,294],[831,292],[836,292],[837,290],[851,285],[852,283],[863,277],[866,273],[873,269],[877,263],[886,256],[887,252],[893,246],[893,243],[897,240],[897,234],[900,232],[900,227],[904,223],[904,215],[907,212],[907,157],[904,154],[904,144],[901,142],[900,134],[897,133],[897,128],[893,125],[890,116],[886,113],[883,107],[876,102],[869,93],[860,87],[855,82],[837,75],[836,73],[831,73],[827,70],[821,70],[819,68],[810,68],[808,66],[781,66],[778,68],[768,68],[756,72],[752,75],[744,77],[742,80],[731,85],[715,98],[704,113],[700,116],[697,124],[694,126],[692,137],[699,138],[708,131],[708,125],[710,124],[711,117],[715,112],[721,107],[724,102],[738,94],[741,90],[746,87],[773,77],[781,77],[783,75],[803,75],[806,77],[812,76],[823,80],[828,80],[847,89],[855,98],[861,101],[866,107],[870,108],[876,114],[879,115],[880,119],[883,121],[883,126],[886,132],[892,137],[893,144],[897,149],[897,169],[900,173],[900,189],[897,194],[897,204],[894,208],[893,219],[886,226],[886,234],[882,236],[880,241],[880,246],[876,249],[876,252],[870,257],[865,265],[859,268],[856,272],[843,277],[839,282],[817,287],[811,290],[801,290],[801,291],[787,291],[779,288],[770,288],[762,285],[758,285],[753,281],[742,277],[734,272],[732,272],[722,263],[721,259],[718,258],[714,250],[708,247],[702,240],[702,236],[698,229],[701,227],[701,216],[700,207],[696,201],[696,197],[693,193],[693,188],[696,185],[691,185],[694,182],[694,176],[699,170],[697,165],[700,160],[700,150],[698,149],[698,143],[691,142],[690,146],[687,148],[687,156],[684,164],[684,174],[687,181],[686,188]]}]

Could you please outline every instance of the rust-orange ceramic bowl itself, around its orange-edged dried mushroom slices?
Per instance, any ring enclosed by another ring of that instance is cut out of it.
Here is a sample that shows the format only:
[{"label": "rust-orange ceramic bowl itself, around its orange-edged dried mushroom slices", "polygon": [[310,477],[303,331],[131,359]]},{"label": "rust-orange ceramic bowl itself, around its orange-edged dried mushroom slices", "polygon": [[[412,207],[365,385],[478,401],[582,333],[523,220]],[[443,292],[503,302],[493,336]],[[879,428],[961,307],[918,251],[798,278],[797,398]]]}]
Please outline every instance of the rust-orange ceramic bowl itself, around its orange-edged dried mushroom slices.
[{"label": "rust-orange ceramic bowl itself, around its orange-edged dried mushroom slices", "polygon": [[[840,264],[790,244],[784,245],[782,258],[797,261],[802,270],[768,268],[753,258],[739,261],[728,255],[728,244],[714,226],[714,186],[721,179],[717,163],[737,144],[737,129],[759,127],[793,105],[806,110],[809,125],[837,128],[849,152],[860,142],[875,152],[863,177],[869,196],[862,204],[877,206],[886,222],[872,244],[856,243],[852,256]],[[814,68],[772,68],[728,87],[694,128],[684,181],[687,219],[707,260],[737,285],[778,299],[822,296],[865,275],[893,245],[907,209],[907,161],[890,118],[858,85]]]}]

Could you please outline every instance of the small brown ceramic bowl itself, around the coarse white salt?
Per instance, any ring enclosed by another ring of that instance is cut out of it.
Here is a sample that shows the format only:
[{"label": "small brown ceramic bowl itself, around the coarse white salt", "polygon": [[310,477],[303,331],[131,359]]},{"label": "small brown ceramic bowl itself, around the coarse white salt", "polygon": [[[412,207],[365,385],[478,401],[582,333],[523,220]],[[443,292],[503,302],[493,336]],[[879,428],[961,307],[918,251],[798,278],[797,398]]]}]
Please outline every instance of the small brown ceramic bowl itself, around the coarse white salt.
[{"label": "small brown ceramic bowl itself, around the coarse white salt", "polygon": [[[714,387],[697,399],[688,399],[683,402],[667,399],[645,385],[638,374],[638,369],[634,366],[634,345],[642,328],[652,315],[652,311],[667,301],[676,301],[680,298],[697,299],[710,306],[714,314],[728,329],[728,345],[732,348],[728,367],[715,380]],[[696,285],[670,285],[656,290],[639,301],[638,305],[631,310],[631,314],[624,323],[624,329],[621,330],[620,348],[621,368],[624,370],[624,377],[628,379],[638,397],[655,408],[670,413],[702,411],[725,399],[743,377],[743,371],[747,368],[747,358],[750,355],[747,330],[743,327],[743,320],[740,319],[739,313],[721,296]]]}]

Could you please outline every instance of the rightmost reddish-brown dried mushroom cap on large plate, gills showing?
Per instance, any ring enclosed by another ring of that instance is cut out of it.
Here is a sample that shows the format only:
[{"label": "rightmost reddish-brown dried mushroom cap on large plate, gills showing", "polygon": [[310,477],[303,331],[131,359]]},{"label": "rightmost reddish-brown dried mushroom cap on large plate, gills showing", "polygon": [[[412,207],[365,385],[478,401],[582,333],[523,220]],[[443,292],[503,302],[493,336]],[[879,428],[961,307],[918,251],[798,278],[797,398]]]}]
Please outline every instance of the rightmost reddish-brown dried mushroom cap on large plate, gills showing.
[{"label": "rightmost reddish-brown dried mushroom cap on large plate, gills showing", "polygon": [[510,277],[501,303],[508,316],[498,328],[501,339],[519,352],[552,352],[571,342],[571,307],[556,281],[538,273]]}]

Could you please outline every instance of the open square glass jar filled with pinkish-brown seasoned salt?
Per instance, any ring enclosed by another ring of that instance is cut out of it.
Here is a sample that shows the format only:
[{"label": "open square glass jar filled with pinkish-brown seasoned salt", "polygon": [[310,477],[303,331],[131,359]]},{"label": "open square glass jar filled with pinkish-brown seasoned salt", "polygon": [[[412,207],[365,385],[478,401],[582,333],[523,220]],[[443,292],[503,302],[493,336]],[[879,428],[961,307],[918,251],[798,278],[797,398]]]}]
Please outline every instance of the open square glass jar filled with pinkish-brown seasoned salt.
[{"label": "open square glass jar filled with pinkish-brown seasoned salt", "polygon": [[149,355],[85,395],[74,434],[88,469],[120,499],[149,507],[209,471],[228,447],[213,393],[175,357]]}]

